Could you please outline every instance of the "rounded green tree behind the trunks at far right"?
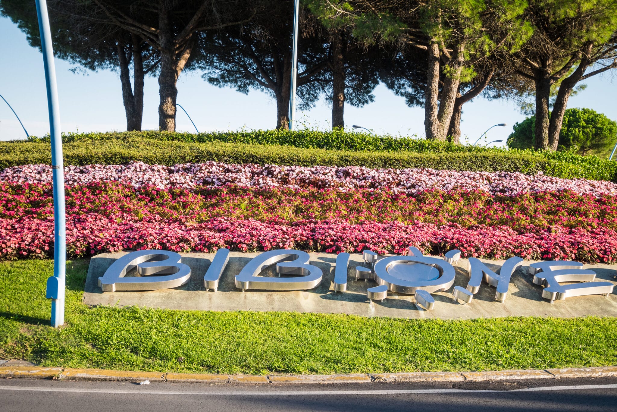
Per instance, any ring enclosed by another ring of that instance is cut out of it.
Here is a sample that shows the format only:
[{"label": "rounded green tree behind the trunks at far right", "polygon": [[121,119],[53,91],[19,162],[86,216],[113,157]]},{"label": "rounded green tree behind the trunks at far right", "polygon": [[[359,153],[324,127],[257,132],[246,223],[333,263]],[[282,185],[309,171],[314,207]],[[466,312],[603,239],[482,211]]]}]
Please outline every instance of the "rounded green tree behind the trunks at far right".
[{"label": "rounded green tree behind the trunks at far right", "polygon": [[[508,137],[508,147],[530,149],[534,146],[536,117],[531,116],[514,125]],[[592,109],[567,109],[559,133],[559,150],[581,155],[611,149],[617,140],[617,122]]]}]

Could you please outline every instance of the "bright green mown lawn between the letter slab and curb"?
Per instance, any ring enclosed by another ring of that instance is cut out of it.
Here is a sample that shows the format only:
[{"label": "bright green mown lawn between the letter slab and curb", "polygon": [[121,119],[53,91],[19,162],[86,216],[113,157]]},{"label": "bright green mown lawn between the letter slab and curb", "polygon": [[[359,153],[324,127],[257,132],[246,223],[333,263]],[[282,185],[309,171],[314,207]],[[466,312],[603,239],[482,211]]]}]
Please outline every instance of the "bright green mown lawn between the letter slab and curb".
[{"label": "bright green mown lawn between the letter slab and curb", "polygon": [[[52,261],[0,263],[0,358],[44,366],[209,373],[376,373],[617,364],[613,317],[471,321],[89,308],[67,268],[67,324],[49,324]],[[183,358],[183,359],[179,359]]]}]

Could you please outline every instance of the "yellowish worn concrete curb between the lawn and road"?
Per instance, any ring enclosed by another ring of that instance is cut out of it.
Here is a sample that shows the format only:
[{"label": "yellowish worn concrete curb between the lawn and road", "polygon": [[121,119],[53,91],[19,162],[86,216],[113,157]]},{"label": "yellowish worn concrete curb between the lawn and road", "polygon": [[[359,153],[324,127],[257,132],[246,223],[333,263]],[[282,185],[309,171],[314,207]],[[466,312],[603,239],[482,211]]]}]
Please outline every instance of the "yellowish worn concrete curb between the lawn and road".
[{"label": "yellowish worn concrete curb between the lawn and road", "polygon": [[350,375],[217,375],[172,372],[110,371],[107,369],[42,368],[40,366],[0,366],[0,378],[56,380],[107,380],[141,382],[197,382],[201,384],[342,384],[370,382],[478,382],[482,380],[561,379],[617,376],[617,366],[486,372],[401,372]]}]

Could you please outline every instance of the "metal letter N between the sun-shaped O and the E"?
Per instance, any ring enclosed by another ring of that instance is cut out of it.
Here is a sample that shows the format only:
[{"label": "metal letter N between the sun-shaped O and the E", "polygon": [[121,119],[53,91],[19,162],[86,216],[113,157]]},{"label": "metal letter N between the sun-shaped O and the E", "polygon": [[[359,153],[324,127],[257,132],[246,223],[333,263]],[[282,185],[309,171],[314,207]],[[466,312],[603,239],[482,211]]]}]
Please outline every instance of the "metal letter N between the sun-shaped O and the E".
[{"label": "metal letter N between the sun-shaped O and the E", "polygon": [[478,293],[482,280],[484,280],[484,282],[497,289],[495,292],[495,300],[499,300],[503,303],[505,297],[508,295],[510,277],[512,277],[512,274],[521,264],[523,264],[523,259],[513,256],[503,263],[498,275],[491,271],[480,259],[469,258],[467,264],[467,271],[469,272],[467,290],[472,294]]}]

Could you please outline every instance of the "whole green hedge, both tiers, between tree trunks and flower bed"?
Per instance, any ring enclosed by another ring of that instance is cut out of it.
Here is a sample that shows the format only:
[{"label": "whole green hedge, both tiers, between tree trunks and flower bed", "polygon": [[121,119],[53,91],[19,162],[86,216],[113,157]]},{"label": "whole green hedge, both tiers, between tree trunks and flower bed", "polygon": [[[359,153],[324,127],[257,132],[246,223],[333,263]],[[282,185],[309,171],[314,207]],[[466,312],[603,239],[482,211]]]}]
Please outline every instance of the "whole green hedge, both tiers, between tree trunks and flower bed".
[{"label": "whole green hedge, both tiers, between tree trunks and flower bed", "polygon": [[[0,142],[0,169],[22,164],[49,164],[51,150],[45,144],[48,138],[33,140]],[[379,138],[336,130],[268,130],[200,135],[167,132],[83,133],[65,135],[63,140],[64,161],[67,165],[143,161],[173,166],[185,162],[220,161],[399,169],[429,167],[438,170],[526,174],[541,171],[556,177],[594,180],[616,180],[617,177],[617,163],[595,156],[481,148],[411,138]]]}]

